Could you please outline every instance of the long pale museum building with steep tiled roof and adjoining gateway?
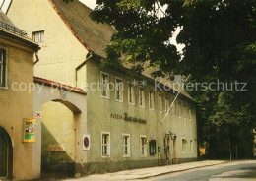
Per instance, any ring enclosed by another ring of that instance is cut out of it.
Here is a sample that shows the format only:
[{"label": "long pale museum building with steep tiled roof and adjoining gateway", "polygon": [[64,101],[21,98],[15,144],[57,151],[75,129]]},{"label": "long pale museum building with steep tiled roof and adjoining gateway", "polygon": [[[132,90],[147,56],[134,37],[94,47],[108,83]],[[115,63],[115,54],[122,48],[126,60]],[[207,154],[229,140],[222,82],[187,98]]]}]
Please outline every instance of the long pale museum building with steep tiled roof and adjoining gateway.
[{"label": "long pale museum building with steep tiled roof and adjoining gateway", "polygon": [[7,14],[41,47],[34,115],[41,111],[42,170],[80,176],[196,160],[194,100],[182,91],[162,122],[174,83],[102,70],[115,30],[91,12],[76,0],[13,0]]}]

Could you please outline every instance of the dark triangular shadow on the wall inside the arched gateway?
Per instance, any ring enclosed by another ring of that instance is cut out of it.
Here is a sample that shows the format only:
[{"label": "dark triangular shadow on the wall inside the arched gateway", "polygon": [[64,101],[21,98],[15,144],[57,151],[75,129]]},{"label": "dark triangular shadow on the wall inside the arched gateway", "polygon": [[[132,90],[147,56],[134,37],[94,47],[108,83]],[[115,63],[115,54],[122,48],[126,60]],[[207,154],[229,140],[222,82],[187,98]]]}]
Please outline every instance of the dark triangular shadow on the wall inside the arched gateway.
[{"label": "dark triangular shadow on the wall inside the arched gateway", "polygon": [[41,124],[41,171],[42,173],[75,175],[75,162],[61,148],[46,126]]}]

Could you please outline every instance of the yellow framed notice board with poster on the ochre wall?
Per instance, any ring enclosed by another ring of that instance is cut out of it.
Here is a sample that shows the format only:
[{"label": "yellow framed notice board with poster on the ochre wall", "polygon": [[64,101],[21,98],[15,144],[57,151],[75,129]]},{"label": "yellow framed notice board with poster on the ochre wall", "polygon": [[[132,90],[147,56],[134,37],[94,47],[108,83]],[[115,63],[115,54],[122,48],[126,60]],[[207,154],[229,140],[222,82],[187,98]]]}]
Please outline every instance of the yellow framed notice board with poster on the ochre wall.
[{"label": "yellow framed notice board with poster on the ochre wall", "polygon": [[35,142],[36,119],[24,119],[23,142]]}]

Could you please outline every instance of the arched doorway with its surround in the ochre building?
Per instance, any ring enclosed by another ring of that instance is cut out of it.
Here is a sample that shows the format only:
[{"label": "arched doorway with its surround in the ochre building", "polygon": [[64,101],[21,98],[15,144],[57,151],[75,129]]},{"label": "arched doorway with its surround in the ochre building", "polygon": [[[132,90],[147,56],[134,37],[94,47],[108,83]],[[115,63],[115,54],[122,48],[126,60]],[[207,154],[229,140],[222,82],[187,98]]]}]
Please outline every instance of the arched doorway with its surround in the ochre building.
[{"label": "arched doorway with its surround in the ochre building", "polygon": [[12,178],[13,144],[8,132],[0,126],[0,178]]}]

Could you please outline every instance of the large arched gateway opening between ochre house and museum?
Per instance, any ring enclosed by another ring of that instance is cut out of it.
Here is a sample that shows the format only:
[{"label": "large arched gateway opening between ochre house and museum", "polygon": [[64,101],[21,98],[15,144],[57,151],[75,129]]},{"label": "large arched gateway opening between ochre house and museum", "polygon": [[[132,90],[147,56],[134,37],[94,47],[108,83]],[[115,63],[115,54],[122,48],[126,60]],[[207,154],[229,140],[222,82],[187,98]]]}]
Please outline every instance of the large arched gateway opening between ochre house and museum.
[{"label": "large arched gateway opening between ochre house and museum", "polygon": [[42,170],[74,174],[81,110],[69,101],[54,99],[44,103],[41,111]]}]

